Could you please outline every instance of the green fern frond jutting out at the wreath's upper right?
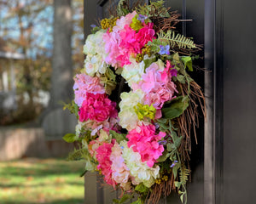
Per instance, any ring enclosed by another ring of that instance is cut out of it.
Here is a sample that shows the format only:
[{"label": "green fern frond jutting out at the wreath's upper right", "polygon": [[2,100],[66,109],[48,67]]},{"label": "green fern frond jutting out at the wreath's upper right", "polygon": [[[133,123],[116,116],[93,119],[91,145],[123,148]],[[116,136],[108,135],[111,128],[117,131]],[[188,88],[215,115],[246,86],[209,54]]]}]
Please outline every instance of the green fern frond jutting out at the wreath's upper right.
[{"label": "green fern frond jutting out at the wreath's upper right", "polygon": [[160,41],[167,42],[172,48],[175,46],[178,48],[197,48],[194,41],[179,33],[175,34],[172,30],[167,31],[166,33],[164,31],[160,31],[158,39]]}]

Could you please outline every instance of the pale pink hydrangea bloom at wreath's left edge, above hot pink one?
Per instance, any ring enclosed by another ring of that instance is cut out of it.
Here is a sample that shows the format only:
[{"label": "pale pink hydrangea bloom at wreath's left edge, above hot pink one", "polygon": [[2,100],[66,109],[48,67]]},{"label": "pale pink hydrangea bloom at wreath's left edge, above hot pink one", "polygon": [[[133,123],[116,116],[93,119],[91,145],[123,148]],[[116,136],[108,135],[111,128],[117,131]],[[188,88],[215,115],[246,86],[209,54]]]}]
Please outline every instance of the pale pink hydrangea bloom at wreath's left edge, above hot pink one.
[{"label": "pale pink hydrangea bloom at wreath's left edge, above hot pink one", "polygon": [[86,99],[87,93],[92,94],[104,94],[105,88],[100,82],[98,77],[90,77],[85,74],[78,74],[74,77],[73,90],[75,94],[74,102],[79,105],[83,104],[84,99]]}]

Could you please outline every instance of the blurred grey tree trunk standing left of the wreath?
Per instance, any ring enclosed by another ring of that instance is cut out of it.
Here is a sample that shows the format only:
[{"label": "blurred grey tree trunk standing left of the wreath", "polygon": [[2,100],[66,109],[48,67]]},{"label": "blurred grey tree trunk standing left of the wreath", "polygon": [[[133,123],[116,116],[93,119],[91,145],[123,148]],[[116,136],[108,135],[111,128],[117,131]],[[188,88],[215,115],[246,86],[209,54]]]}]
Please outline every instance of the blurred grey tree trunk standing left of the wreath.
[{"label": "blurred grey tree trunk standing left of the wreath", "polygon": [[55,0],[54,49],[50,108],[61,101],[70,101],[73,96],[73,69],[71,37],[73,31],[71,0]]}]

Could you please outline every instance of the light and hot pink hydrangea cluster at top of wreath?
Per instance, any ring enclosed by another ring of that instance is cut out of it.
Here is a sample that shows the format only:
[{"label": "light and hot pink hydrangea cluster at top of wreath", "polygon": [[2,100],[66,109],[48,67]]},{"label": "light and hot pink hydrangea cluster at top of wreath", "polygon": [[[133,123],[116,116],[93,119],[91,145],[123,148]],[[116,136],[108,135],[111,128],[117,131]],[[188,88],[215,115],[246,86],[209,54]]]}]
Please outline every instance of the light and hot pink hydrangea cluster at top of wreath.
[{"label": "light and hot pink hydrangea cluster at top of wreath", "polygon": [[136,12],[133,12],[121,17],[117,20],[117,26],[113,26],[113,31],[103,35],[105,52],[108,54],[105,61],[115,68],[130,65],[130,56],[141,53],[144,45],[155,38],[153,23],[143,24],[138,32],[131,29],[130,24],[135,15]]}]

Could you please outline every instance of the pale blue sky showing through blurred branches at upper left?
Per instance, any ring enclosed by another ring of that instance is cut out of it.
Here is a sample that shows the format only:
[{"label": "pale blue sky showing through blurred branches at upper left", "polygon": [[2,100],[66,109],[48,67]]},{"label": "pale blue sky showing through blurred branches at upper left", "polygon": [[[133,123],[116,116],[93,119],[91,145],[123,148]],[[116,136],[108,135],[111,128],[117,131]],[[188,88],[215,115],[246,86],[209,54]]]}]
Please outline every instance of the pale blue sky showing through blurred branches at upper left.
[{"label": "pale blue sky showing through blurred branches at upper left", "polygon": [[[7,1],[7,0],[6,0]],[[1,5],[0,5],[1,6]],[[36,8],[34,6],[34,8]],[[20,1],[20,8],[29,8],[25,4],[25,0]],[[9,10],[7,8],[0,8],[0,37],[4,40],[14,39],[19,40],[20,28],[18,15],[9,17]],[[33,14],[32,14],[33,15]],[[24,27],[27,27],[29,22],[32,22],[32,47],[27,50],[26,56],[29,58],[36,58],[37,54],[46,54],[48,56],[52,53],[53,48],[53,16],[54,10],[49,4],[43,11],[41,11],[36,17],[32,15],[24,15],[21,20]],[[5,29],[9,29],[8,32]],[[43,49],[38,49],[41,47]],[[20,52],[21,50],[16,50]]]}]

